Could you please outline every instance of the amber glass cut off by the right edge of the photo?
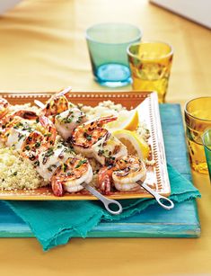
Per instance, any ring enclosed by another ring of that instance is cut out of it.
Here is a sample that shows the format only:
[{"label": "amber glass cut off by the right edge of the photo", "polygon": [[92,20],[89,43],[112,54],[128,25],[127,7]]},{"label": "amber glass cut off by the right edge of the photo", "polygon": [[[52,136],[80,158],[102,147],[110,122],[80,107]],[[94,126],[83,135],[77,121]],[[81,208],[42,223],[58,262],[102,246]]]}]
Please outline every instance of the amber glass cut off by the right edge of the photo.
[{"label": "amber glass cut off by the right edge of the photo", "polygon": [[201,97],[187,102],[185,121],[190,165],[195,171],[208,174],[202,136],[211,128],[211,97]]}]

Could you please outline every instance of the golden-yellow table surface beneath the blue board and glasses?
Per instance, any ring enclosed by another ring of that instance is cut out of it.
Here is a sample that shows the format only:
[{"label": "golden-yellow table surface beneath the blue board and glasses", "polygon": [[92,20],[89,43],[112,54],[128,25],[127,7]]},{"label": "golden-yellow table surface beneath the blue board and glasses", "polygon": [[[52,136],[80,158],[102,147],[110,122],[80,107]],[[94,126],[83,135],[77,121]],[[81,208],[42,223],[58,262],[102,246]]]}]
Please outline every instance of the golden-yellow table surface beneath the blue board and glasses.
[{"label": "golden-yellow table surface beneath the blue board and glasses", "polygon": [[[210,95],[210,31],[145,0],[22,1],[0,18],[0,90],[108,90],[92,79],[84,39],[96,22],[130,22],[143,40],[171,43],[167,102]],[[207,175],[193,177],[200,238],[75,238],[48,253],[35,238],[1,238],[1,275],[211,275],[211,187]]]}]

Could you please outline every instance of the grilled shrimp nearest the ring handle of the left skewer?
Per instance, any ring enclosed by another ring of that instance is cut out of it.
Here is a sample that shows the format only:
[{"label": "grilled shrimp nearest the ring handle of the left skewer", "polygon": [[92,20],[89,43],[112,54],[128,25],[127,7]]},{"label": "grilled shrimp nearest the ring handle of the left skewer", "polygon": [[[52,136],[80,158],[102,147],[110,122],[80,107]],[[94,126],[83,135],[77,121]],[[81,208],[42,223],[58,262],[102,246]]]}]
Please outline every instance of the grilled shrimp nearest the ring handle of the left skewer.
[{"label": "grilled shrimp nearest the ring handle of the left skewer", "polygon": [[51,186],[56,196],[62,196],[64,191],[81,191],[84,187],[82,183],[92,181],[92,166],[85,158],[68,158],[51,178]]}]

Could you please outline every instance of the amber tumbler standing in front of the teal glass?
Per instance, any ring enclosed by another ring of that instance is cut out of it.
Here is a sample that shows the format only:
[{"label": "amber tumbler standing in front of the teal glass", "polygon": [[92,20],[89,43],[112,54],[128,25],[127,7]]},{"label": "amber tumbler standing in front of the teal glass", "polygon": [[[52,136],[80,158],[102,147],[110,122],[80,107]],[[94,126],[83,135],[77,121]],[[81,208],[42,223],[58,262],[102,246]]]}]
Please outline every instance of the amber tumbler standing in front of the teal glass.
[{"label": "amber tumbler standing in front of the teal glass", "polygon": [[173,51],[171,45],[144,41],[127,48],[133,90],[156,91],[158,101],[165,102]]}]

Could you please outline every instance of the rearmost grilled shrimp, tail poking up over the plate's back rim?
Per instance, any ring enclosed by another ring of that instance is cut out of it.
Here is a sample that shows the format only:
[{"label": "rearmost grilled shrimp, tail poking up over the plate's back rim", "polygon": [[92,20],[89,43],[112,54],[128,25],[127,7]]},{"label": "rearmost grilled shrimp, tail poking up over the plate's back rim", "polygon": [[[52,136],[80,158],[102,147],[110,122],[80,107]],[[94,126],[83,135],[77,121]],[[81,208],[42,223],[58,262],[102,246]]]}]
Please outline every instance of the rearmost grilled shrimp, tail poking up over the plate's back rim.
[{"label": "rearmost grilled shrimp, tail poking up over the plate's back rim", "polygon": [[46,103],[45,107],[41,110],[41,114],[50,117],[51,120],[54,121],[55,116],[63,111],[68,110],[69,102],[66,99],[66,93],[69,93],[71,87],[67,87],[66,89],[62,90],[59,93],[54,94],[48,102]]}]

